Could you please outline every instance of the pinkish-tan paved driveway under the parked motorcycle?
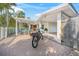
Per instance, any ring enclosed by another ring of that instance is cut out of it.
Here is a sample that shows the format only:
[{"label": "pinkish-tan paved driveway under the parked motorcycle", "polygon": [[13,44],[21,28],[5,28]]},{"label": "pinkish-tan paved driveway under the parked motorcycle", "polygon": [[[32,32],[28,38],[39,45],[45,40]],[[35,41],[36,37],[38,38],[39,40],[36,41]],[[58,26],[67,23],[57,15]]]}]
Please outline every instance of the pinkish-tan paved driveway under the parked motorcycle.
[{"label": "pinkish-tan paved driveway under the parked motorcycle", "polygon": [[1,56],[67,56],[77,55],[71,48],[61,45],[48,35],[39,41],[37,48],[32,48],[29,35],[19,35],[0,41]]}]

